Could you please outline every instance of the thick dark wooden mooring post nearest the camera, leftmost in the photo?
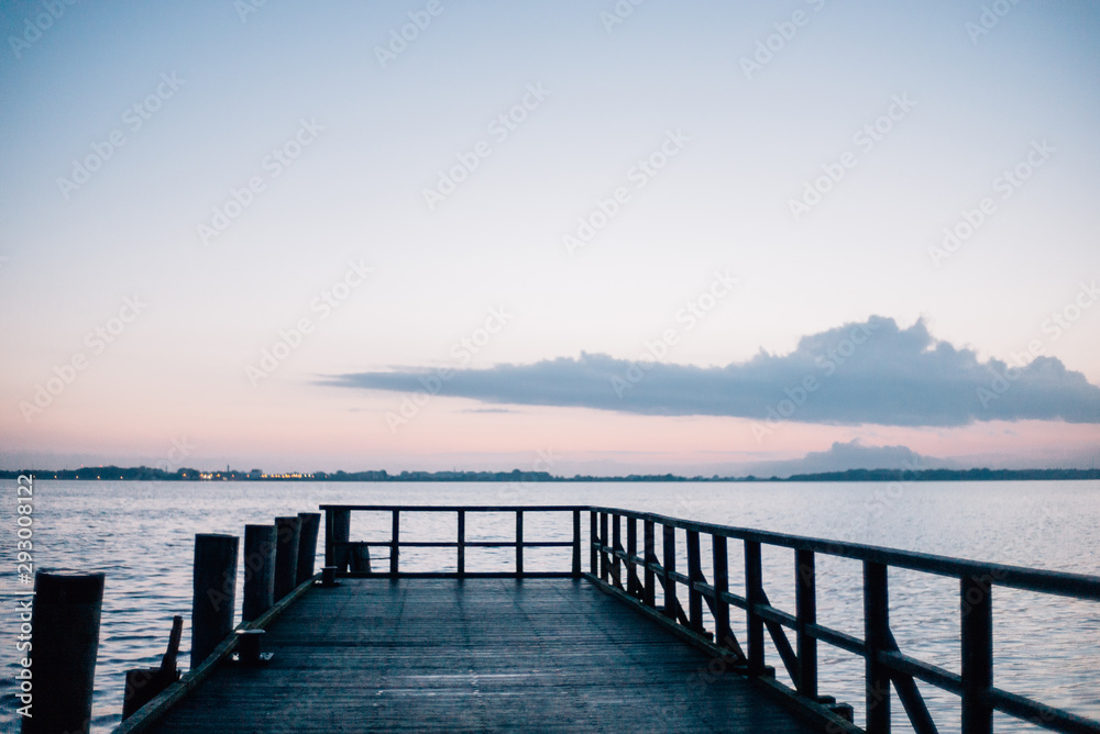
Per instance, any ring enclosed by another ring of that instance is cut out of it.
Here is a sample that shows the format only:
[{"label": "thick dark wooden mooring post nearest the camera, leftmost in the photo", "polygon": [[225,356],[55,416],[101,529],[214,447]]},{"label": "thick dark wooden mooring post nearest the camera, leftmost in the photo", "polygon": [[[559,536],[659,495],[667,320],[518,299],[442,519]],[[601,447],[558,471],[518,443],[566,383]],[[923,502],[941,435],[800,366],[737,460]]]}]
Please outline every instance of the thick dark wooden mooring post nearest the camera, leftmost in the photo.
[{"label": "thick dark wooden mooring post nearest the camera, leftmost in the photo", "polygon": [[[30,668],[15,675],[15,699],[30,705],[23,734],[88,732],[99,652],[103,575],[67,570],[34,575]],[[28,671],[26,678],[21,678]],[[24,690],[23,681],[30,687]],[[25,696],[24,701],[21,697]]]}]

